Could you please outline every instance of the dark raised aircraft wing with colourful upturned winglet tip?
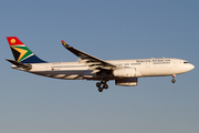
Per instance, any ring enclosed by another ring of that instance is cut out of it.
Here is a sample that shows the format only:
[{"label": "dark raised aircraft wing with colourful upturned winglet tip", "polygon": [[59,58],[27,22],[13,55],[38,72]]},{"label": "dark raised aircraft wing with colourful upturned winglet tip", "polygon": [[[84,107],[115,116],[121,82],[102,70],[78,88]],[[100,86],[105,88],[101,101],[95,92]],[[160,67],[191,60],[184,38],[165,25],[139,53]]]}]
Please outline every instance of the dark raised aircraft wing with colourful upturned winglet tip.
[{"label": "dark raised aircraft wing with colourful upturned winglet tip", "polygon": [[65,41],[61,41],[63,47],[74,53],[76,57],[78,57],[78,61],[82,63],[85,63],[85,65],[90,66],[91,70],[93,70],[92,73],[97,73],[101,70],[113,70],[114,68],[117,68],[116,65],[108,63],[104,60],[101,60],[98,58],[95,58],[93,55],[90,55],[85,52],[82,52],[67,43]]}]

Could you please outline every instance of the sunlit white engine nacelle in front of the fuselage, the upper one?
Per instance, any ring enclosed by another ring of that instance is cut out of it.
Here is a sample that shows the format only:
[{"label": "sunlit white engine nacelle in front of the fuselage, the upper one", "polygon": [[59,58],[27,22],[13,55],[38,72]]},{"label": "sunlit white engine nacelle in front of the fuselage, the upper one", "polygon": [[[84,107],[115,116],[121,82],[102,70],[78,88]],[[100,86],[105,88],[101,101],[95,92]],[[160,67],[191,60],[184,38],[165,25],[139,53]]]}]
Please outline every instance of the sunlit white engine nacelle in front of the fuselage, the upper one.
[{"label": "sunlit white engine nacelle in front of the fuselage, the upper one", "polygon": [[113,71],[113,75],[119,78],[134,78],[135,73],[135,68],[121,68]]}]

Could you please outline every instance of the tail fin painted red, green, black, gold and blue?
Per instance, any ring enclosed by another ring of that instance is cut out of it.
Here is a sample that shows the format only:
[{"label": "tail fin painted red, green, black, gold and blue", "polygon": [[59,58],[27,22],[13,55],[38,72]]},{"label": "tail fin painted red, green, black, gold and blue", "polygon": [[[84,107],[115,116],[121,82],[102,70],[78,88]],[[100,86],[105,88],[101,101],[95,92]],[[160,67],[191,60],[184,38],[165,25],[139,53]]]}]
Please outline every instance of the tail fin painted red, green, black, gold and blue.
[{"label": "tail fin painted red, green, black, gold and blue", "polygon": [[46,61],[38,58],[17,37],[7,37],[15,61],[21,63],[44,63]]}]

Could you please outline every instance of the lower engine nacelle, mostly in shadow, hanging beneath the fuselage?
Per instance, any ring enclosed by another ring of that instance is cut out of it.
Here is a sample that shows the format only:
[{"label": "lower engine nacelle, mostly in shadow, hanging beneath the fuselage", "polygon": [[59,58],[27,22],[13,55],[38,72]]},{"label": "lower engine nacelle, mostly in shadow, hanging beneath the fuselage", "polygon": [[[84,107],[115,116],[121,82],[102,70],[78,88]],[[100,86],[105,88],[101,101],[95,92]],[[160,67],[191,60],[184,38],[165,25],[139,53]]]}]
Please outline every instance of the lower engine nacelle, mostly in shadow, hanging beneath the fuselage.
[{"label": "lower engine nacelle, mostly in shadow, hanging beneath the fuselage", "polygon": [[115,84],[124,86],[135,86],[137,85],[137,78],[115,80]]}]

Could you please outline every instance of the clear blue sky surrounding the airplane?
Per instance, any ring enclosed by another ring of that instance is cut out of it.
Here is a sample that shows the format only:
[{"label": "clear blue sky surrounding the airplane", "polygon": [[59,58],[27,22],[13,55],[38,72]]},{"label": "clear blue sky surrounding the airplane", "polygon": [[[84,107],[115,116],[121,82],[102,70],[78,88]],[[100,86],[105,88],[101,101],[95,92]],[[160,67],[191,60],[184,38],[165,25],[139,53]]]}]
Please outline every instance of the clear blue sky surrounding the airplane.
[{"label": "clear blue sky surrounding the airplane", "polygon": [[[1,133],[198,133],[198,0],[3,0],[0,2]],[[60,43],[103,60],[179,58],[195,70],[143,78],[98,93],[95,81],[12,70],[6,37],[43,60],[76,61]]]}]

